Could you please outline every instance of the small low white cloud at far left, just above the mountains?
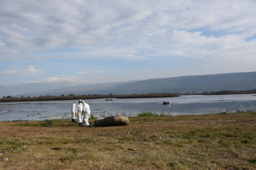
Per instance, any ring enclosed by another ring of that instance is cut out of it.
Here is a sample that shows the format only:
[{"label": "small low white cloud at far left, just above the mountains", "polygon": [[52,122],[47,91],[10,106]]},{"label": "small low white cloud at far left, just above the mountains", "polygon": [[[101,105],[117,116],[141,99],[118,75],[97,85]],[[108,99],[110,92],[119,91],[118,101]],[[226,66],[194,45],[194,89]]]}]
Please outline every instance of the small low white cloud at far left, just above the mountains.
[{"label": "small low white cloud at far left, just above the mountains", "polygon": [[38,67],[30,65],[27,69],[7,69],[5,71],[0,72],[0,76],[12,76],[14,74],[17,74],[19,76],[37,76],[39,74],[44,74],[44,67]]}]

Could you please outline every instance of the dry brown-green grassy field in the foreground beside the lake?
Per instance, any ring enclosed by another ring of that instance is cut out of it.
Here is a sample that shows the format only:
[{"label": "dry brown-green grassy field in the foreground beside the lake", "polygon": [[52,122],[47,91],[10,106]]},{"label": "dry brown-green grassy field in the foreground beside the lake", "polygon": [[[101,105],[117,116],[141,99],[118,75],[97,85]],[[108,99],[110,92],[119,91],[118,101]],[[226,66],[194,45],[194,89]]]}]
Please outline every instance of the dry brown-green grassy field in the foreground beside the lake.
[{"label": "dry brown-green grassy field in the foreground beside the lake", "polygon": [[0,122],[0,169],[256,169],[256,113],[129,120]]}]

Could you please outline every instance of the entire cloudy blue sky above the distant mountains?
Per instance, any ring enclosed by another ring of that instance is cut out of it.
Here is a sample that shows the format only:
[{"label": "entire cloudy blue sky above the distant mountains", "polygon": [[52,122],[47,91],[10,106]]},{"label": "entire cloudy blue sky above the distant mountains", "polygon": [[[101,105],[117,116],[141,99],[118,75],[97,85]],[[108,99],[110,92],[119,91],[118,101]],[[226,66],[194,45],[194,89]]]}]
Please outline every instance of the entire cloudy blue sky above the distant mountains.
[{"label": "entire cloudy blue sky above the distant mountains", "polygon": [[0,0],[0,85],[256,71],[255,9],[255,0]]}]

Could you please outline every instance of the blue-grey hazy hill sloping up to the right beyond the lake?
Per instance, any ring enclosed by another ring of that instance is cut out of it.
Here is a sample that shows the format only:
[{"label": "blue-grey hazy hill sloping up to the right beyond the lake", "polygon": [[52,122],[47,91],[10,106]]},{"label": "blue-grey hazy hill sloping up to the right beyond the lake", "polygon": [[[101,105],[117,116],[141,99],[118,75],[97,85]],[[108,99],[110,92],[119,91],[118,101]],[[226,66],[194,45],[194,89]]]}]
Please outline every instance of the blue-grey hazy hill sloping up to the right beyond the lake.
[{"label": "blue-grey hazy hill sloping up to the right beyond the lake", "polygon": [[248,89],[256,89],[256,72],[157,78],[116,85],[111,90],[113,94],[145,94]]}]

